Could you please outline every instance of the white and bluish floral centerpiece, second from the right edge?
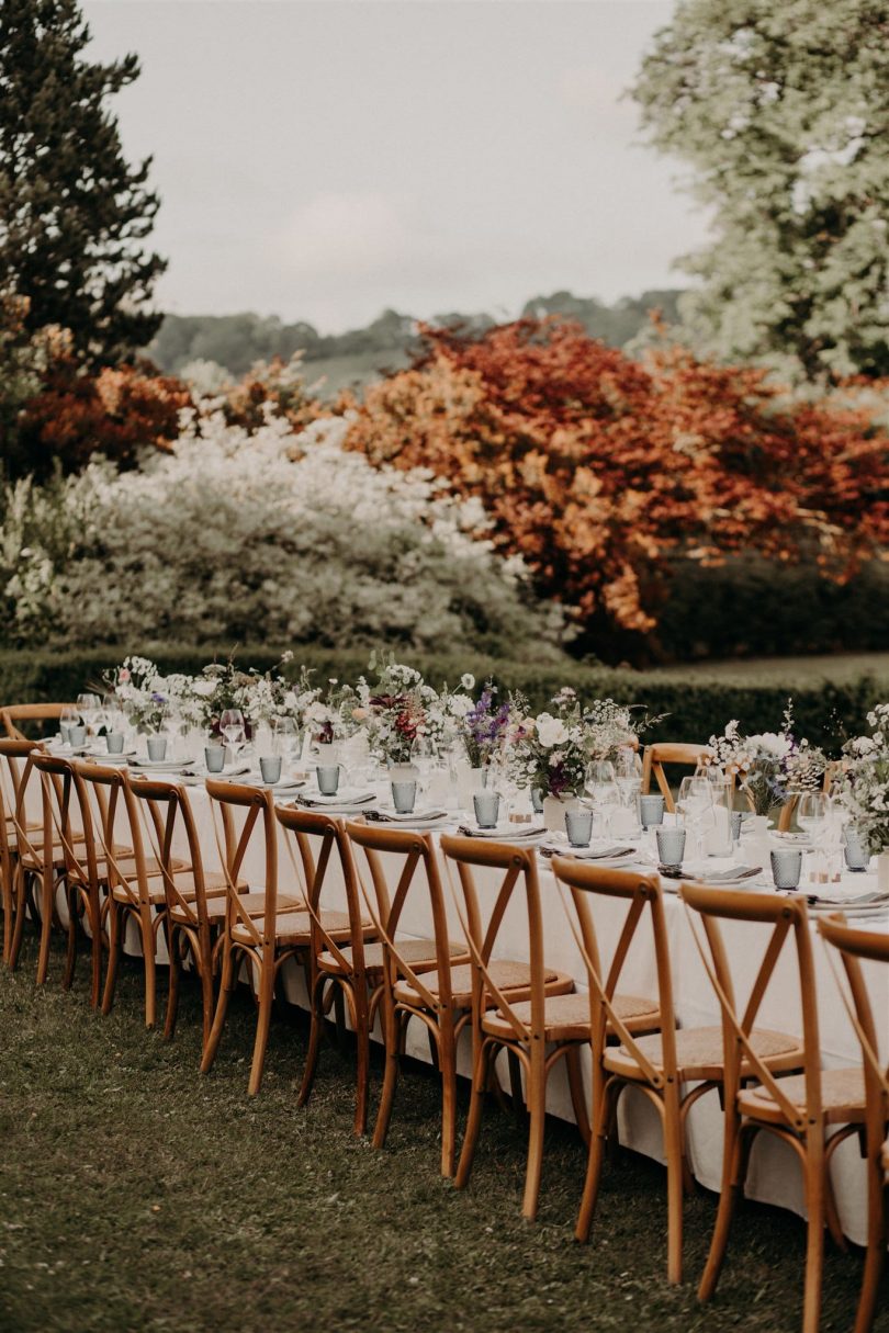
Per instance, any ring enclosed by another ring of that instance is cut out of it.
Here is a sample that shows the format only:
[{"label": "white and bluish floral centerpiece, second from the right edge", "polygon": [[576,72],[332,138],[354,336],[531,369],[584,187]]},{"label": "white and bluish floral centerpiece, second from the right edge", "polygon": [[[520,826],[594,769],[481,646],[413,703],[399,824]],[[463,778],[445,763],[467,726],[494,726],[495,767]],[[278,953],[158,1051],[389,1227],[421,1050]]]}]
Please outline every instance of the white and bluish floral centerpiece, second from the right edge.
[{"label": "white and bluish floral centerpiece, second from the right edge", "polygon": [[788,702],[780,732],[741,736],[737,720],[721,736],[710,736],[705,762],[737,776],[754,814],[768,814],[802,792],[817,790],[828,766],[824,750],[793,734],[793,705]]}]

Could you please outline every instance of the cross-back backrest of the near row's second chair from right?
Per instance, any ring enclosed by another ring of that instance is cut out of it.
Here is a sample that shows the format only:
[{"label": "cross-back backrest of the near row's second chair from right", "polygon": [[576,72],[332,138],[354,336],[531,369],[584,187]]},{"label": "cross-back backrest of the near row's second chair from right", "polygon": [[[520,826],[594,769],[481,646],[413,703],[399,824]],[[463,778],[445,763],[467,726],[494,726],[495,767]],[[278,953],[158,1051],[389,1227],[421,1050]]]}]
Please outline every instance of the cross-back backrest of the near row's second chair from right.
[{"label": "cross-back backrest of the near row's second chair from right", "polygon": [[[776,893],[753,893],[749,889],[710,888],[701,884],[682,884],[680,888],[689,925],[701,952],[701,960],[722,1010],[722,1044],[725,1057],[725,1096],[737,1094],[741,1062],[750,1065],[756,1078],[764,1085],[788,1121],[797,1132],[804,1132],[806,1121],[821,1121],[821,1042],[818,1040],[818,1012],[814,989],[814,964],[809,917],[802,897]],[[692,913],[704,925],[701,940]],[[762,952],[762,961],[753,978],[744,1010],[737,1005],[732,960],[744,962],[745,974],[750,969],[750,946],[745,940],[742,950],[726,949],[720,921],[760,922],[772,926]],[[796,949],[802,1012],[802,1073],[805,1076],[805,1109],[794,1105],[780,1086],[780,1080],[769,1072],[753,1049],[749,1036],[762,1000],[774,976],[774,969],[788,940]],[[708,957],[709,949],[709,957]]]}]

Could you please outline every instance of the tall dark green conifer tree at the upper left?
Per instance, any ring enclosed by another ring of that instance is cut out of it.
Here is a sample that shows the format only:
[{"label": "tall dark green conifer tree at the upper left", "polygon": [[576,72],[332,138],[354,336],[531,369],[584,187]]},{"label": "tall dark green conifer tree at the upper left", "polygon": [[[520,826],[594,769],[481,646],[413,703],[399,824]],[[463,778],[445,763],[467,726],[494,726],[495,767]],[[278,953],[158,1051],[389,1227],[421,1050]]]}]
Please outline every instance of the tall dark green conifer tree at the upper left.
[{"label": "tall dark green conifer tree at the upper left", "polygon": [[105,99],[139,60],[89,63],[76,0],[0,4],[0,291],[28,301],[27,327],[71,331],[77,357],[109,364],[144,347],[165,260],[151,253],[159,196],[151,159],[131,167]]}]

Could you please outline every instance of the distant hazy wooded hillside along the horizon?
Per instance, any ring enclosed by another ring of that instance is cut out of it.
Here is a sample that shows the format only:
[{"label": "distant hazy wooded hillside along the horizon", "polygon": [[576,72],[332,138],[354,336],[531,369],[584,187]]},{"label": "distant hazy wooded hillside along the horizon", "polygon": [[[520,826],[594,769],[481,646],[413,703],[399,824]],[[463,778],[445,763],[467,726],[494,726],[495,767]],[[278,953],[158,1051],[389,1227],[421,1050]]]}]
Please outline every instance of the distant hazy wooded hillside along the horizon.
[{"label": "distant hazy wooded hillside along the horizon", "polygon": [[[565,315],[578,320],[593,337],[612,347],[625,347],[648,323],[649,311],[661,311],[666,323],[678,320],[677,300],[681,291],[642,292],[625,296],[613,305],[594,296],[554,292],[536,296],[522,315]],[[489,328],[489,315],[436,315],[431,324],[462,324],[470,329]],[[168,315],[157,336],[147,348],[148,356],[161,371],[179,373],[193,361],[215,361],[232,376],[240,377],[255,361],[273,356],[288,360],[303,351],[307,379],[323,380],[325,393],[360,387],[387,371],[400,369],[417,345],[416,321],[397,311],[384,311],[367,328],[347,333],[319,333],[312,324],[284,324],[277,316],[241,315]]]}]

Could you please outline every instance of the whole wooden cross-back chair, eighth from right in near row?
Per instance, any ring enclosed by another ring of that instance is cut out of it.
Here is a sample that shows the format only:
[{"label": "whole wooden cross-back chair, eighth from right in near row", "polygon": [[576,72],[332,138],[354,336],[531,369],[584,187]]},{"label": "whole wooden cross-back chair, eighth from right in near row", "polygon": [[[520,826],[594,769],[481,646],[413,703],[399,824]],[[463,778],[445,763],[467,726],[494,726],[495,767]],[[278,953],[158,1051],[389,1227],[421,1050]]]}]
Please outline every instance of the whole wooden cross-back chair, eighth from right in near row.
[{"label": "whole wooden cross-back chair, eighth from right in near row", "polygon": [[[179,1013],[181,964],[191,957],[201,986],[201,1058],[207,1053],[216,1009],[215,977],[223,945],[227,877],[224,872],[207,870],[201,853],[195,814],[184,786],[148,777],[129,777],[128,794],[144,812],[141,825],[153,852],[152,865],[160,870],[160,884],[152,876],[149,892],[163,890],[167,906],[167,952],[169,954],[169,988],[164,1036],[172,1037]],[[173,848],[184,842],[188,869],[175,856]],[[137,878],[148,876],[148,864],[137,865]],[[241,885],[245,888],[245,885]]]}]

